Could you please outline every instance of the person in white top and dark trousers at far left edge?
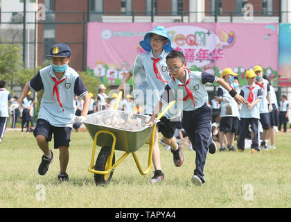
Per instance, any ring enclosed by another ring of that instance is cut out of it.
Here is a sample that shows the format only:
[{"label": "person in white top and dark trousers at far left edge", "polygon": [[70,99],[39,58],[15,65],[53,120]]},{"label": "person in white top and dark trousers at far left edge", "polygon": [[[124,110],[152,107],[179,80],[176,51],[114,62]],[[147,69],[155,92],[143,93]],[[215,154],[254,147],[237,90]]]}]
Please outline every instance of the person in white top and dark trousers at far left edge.
[{"label": "person in white top and dark trousers at far left edge", "polygon": [[12,101],[12,96],[6,89],[6,81],[0,80],[0,144],[4,136],[7,126],[7,119],[9,117],[8,103]]}]

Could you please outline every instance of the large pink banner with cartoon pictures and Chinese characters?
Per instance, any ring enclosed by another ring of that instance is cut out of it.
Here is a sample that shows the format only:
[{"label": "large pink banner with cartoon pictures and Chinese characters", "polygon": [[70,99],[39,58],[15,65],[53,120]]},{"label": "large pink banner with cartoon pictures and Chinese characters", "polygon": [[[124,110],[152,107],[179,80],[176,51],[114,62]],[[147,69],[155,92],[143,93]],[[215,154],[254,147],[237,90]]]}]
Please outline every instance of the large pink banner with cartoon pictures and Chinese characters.
[{"label": "large pink banner with cartoon pictures and Chinese characters", "polygon": [[167,28],[173,48],[186,57],[191,70],[219,76],[230,67],[245,84],[244,73],[261,65],[277,84],[277,24],[237,23],[88,23],[87,71],[103,83],[118,85],[143,53],[139,42],[155,26]]}]

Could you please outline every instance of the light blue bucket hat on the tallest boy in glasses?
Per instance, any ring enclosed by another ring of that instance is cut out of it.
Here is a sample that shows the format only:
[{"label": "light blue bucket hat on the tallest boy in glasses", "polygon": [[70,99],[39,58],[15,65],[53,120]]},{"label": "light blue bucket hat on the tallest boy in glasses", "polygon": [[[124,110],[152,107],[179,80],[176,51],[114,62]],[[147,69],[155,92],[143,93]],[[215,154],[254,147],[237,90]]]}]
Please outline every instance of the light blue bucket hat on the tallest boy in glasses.
[{"label": "light blue bucket hat on the tallest boy in glasses", "polygon": [[168,42],[167,42],[167,44],[164,44],[163,49],[165,51],[172,51],[173,50],[172,43],[171,43],[171,38],[168,35],[168,31],[166,30],[166,28],[164,26],[155,26],[155,28],[153,28],[152,31],[150,31],[148,33],[145,33],[145,36],[143,37],[143,40],[141,40],[141,42],[139,42],[139,44],[141,45],[141,47],[145,51],[151,51],[152,50],[152,46],[150,46],[150,34],[151,33],[166,37],[168,39]]}]

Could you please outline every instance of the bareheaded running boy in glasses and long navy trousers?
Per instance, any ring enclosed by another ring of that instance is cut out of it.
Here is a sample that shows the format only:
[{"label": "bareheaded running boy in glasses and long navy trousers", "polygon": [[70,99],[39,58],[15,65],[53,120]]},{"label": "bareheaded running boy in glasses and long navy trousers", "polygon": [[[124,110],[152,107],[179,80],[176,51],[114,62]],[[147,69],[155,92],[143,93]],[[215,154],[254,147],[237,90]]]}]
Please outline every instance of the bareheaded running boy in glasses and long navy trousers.
[{"label": "bareheaded running boy in glasses and long navy trousers", "polygon": [[166,57],[166,61],[172,80],[166,85],[159,103],[155,105],[155,110],[152,113],[149,125],[152,126],[163,103],[168,103],[173,100],[178,101],[178,90],[181,90],[183,93],[182,126],[193,145],[193,150],[196,152],[196,168],[191,182],[194,185],[201,186],[205,182],[204,166],[206,163],[206,155],[208,152],[213,154],[216,151],[216,145],[211,137],[212,110],[206,104],[209,97],[205,84],[218,83],[224,89],[227,89],[237,103],[244,103],[245,100],[234,89],[231,89],[222,78],[217,78],[213,74],[187,69],[185,57],[180,51],[170,51]]}]

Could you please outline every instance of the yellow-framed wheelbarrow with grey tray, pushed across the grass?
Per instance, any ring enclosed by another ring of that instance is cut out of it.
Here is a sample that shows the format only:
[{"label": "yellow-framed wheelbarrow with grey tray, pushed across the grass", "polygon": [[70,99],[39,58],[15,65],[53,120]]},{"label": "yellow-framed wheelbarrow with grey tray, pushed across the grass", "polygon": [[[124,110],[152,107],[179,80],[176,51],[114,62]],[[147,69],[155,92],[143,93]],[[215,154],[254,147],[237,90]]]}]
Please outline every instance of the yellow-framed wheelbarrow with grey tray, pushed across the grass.
[{"label": "yellow-framed wheelbarrow with grey tray, pushed across the grass", "polygon": [[[121,99],[122,92],[119,92],[116,104],[114,105],[114,112],[118,112],[119,116],[123,119],[127,119],[128,112],[116,110],[118,103]],[[106,119],[112,118],[110,112],[112,110],[103,110],[100,112],[95,112],[94,114],[89,114],[87,116],[87,121],[84,122],[85,127],[87,128],[91,138],[94,140],[93,150],[91,155],[91,163],[88,169],[89,172],[94,173],[94,180],[96,185],[107,184],[110,182],[114,169],[129,155],[132,153],[134,161],[139,173],[141,175],[146,175],[150,171],[152,163],[152,149],[154,145],[155,129],[159,119],[164,116],[164,114],[170,109],[170,107],[175,103],[175,101],[169,103],[167,107],[159,114],[155,119],[154,126],[150,128],[145,125],[139,130],[123,130],[119,128],[112,128],[110,126],[98,125],[96,118],[98,115],[101,115]],[[141,123],[145,123],[147,116],[143,114],[132,114],[132,119],[139,118]],[[148,154],[148,167],[143,171],[141,164],[136,156],[136,151],[141,148],[144,144],[150,146]],[[100,152],[96,159],[96,164],[94,164],[96,145],[101,146]],[[125,151],[125,153],[115,162],[115,153],[114,151]]]}]

